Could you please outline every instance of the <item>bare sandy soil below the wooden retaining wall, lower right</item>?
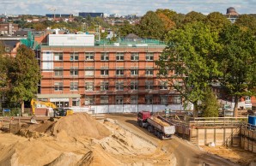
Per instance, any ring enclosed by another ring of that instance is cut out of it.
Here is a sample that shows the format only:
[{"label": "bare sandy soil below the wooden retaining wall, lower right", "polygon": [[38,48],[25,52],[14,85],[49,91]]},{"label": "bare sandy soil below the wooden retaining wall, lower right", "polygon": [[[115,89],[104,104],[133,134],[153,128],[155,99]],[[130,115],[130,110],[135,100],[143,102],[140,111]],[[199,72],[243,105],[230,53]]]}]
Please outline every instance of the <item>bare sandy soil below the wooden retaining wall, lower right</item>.
[{"label": "bare sandy soil below the wooden retaining wall, lower right", "polygon": [[239,163],[240,165],[256,166],[256,154],[250,151],[244,151],[240,148],[230,147],[229,149],[223,146],[202,146],[204,151],[216,154],[219,157],[227,158],[232,162]]}]

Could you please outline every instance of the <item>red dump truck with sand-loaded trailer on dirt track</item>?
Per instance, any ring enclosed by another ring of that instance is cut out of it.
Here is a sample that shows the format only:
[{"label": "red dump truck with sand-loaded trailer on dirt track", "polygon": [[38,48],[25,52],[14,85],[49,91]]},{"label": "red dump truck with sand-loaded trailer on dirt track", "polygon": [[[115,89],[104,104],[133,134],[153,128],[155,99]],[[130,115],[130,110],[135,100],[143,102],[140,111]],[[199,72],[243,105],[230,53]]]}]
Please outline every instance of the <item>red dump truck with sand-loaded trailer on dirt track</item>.
[{"label": "red dump truck with sand-loaded trailer on dirt track", "polygon": [[145,110],[137,113],[137,124],[148,128],[149,132],[155,133],[159,139],[171,139],[175,133],[175,127],[162,121],[161,116],[151,116],[151,113]]}]

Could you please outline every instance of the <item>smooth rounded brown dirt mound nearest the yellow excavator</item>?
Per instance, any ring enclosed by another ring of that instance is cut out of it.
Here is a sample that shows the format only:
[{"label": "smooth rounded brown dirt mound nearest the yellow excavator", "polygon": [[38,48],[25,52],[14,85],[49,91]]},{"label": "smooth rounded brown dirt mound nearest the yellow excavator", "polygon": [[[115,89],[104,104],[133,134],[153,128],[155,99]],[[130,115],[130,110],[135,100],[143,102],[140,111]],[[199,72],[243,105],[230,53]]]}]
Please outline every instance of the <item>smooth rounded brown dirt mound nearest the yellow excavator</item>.
[{"label": "smooth rounded brown dirt mound nearest the yellow excavator", "polygon": [[[65,134],[66,133],[66,134]],[[94,120],[93,117],[86,113],[65,116],[58,120],[53,126],[52,134],[59,139],[69,137],[87,137],[93,139],[102,139],[111,134],[111,132],[101,123]]]}]

